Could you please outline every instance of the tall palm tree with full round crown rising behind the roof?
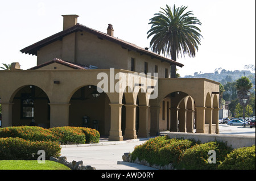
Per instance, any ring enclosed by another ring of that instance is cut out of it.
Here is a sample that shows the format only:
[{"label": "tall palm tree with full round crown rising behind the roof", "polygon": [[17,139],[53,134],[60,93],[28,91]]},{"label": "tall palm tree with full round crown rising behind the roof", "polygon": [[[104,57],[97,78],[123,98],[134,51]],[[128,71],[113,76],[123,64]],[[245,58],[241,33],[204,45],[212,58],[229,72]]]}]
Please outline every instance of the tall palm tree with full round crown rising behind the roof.
[{"label": "tall palm tree with full round crown rising behind the roof", "polygon": [[[203,37],[201,30],[196,25],[201,22],[191,15],[192,11],[184,12],[187,7],[171,7],[166,5],[166,9],[154,14],[150,19],[151,29],[147,32],[149,38],[154,35],[150,41],[150,47],[155,53],[163,53],[163,56],[170,56],[176,61],[179,54],[189,57],[195,57],[200,39]],[[171,66],[171,77],[176,77],[176,66]]]}]

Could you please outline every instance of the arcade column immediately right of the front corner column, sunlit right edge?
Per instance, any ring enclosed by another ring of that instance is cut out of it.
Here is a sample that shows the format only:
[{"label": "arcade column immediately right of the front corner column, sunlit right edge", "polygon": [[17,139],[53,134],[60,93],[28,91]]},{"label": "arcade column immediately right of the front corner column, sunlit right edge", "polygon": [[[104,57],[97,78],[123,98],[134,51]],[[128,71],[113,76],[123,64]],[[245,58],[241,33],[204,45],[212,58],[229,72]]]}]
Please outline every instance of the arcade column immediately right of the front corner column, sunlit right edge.
[{"label": "arcade column immediately right of the front corner column, sunlit right edge", "polygon": [[137,134],[136,134],[136,104],[125,104],[125,135],[123,138],[125,139],[136,139]]}]

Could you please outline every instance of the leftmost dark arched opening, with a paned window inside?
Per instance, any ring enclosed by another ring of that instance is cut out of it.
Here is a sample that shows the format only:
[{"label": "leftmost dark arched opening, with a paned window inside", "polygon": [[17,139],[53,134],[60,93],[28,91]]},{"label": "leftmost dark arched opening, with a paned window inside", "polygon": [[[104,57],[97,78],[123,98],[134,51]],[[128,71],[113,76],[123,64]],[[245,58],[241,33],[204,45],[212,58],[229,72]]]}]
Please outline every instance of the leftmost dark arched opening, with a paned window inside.
[{"label": "leftmost dark arched opening, with a paned window inside", "polygon": [[50,127],[49,98],[38,86],[20,87],[13,96],[12,125],[30,125],[32,119],[39,127]]}]

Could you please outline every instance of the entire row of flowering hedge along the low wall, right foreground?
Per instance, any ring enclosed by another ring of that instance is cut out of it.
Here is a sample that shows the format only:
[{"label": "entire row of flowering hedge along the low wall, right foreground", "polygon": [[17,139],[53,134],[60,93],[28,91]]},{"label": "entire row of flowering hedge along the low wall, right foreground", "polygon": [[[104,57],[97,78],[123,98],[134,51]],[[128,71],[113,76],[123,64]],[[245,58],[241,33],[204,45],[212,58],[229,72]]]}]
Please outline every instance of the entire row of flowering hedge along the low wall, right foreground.
[{"label": "entire row of flowering hedge along the low wall, right foreground", "polygon": [[[209,150],[216,153],[216,163],[208,163]],[[247,169],[255,170],[255,145],[233,149],[224,142],[211,141],[204,144],[195,140],[156,137],[135,146],[131,160],[147,161],[150,165],[168,165],[175,169]]]}]

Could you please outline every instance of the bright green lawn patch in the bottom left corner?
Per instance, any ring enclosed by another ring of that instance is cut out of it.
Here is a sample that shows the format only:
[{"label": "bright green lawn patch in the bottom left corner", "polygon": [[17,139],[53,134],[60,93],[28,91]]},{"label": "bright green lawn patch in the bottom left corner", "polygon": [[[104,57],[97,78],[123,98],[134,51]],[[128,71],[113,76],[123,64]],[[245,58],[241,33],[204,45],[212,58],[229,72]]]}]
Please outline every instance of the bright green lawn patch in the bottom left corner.
[{"label": "bright green lawn patch in the bottom left corner", "polygon": [[0,170],[70,170],[67,166],[46,160],[38,163],[37,160],[0,160]]}]

